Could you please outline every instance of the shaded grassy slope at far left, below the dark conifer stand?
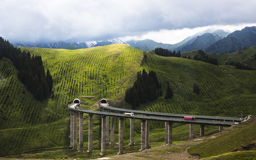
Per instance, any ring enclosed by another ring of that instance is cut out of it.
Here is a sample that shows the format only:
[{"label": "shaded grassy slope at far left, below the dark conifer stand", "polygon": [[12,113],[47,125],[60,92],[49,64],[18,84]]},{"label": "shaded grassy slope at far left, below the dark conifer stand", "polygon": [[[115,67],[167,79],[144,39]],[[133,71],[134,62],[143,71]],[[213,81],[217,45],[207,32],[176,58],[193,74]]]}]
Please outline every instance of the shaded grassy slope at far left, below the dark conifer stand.
[{"label": "shaded grassy slope at far left, below the dark conifer stand", "polygon": [[17,78],[9,59],[0,61],[0,154],[65,145],[68,121],[55,121],[55,113],[38,102]]}]

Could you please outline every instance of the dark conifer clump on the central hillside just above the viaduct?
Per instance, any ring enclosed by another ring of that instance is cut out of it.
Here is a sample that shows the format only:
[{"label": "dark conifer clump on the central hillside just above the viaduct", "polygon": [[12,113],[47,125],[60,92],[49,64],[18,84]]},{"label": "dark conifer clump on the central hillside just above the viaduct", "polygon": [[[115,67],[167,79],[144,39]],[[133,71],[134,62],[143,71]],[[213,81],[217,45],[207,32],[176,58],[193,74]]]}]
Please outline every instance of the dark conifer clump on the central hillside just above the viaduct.
[{"label": "dark conifer clump on the central hillside just above the viaduct", "polygon": [[133,86],[125,91],[125,101],[131,103],[133,109],[135,106],[140,106],[140,103],[145,103],[147,100],[153,101],[162,95],[161,85],[158,82],[154,71],[143,69],[137,73],[137,81]]}]

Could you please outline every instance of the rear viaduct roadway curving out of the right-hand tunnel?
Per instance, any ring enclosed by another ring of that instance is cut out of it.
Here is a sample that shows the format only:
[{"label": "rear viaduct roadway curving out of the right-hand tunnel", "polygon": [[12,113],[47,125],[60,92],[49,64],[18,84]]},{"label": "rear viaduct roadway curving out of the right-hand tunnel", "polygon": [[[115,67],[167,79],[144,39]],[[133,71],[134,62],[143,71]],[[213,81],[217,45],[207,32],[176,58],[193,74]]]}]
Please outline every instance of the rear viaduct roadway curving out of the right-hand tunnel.
[{"label": "rear viaduct roadway curving out of the right-hand tunnel", "polygon": [[140,110],[132,110],[132,109],[123,109],[123,108],[116,108],[111,107],[108,103],[100,103],[100,107],[103,109],[107,109],[110,111],[118,111],[118,112],[129,112],[134,114],[141,114],[141,115],[148,115],[148,116],[160,116],[160,117],[178,117],[183,118],[185,116],[195,117],[196,119],[204,119],[204,120],[216,120],[216,121],[234,121],[234,122],[241,122],[241,118],[237,117],[219,117],[219,116],[201,116],[201,115],[185,115],[185,114],[170,114],[170,113],[158,113],[152,111],[140,111]]}]

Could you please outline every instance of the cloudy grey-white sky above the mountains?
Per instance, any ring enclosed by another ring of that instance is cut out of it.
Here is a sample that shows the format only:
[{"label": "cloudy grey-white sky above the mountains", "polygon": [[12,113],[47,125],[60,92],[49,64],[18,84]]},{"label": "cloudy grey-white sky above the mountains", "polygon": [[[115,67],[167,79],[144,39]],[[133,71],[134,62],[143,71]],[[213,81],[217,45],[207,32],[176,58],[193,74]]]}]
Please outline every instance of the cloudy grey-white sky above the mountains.
[{"label": "cloudy grey-white sky above the mountains", "polygon": [[208,28],[256,26],[255,0],[0,0],[0,36],[17,42],[114,38],[178,43]]}]

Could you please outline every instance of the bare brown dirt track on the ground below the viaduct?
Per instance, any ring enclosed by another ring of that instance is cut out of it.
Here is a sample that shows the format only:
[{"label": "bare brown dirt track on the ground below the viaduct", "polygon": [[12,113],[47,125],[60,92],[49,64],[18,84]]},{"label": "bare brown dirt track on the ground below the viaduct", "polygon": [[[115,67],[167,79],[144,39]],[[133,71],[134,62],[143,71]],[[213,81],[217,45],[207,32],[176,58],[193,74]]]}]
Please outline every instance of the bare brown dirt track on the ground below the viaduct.
[{"label": "bare brown dirt track on the ground below the viaduct", "polygon": [[98,159],[199,159],[199,156],[197,155],[188,154],[188,148],[198,143],[200,142],[181,142],[171,146],[159,146],[146,149],[141,153],[127,153],[124,155],[115,155],[109,157],[102,157]]}]

